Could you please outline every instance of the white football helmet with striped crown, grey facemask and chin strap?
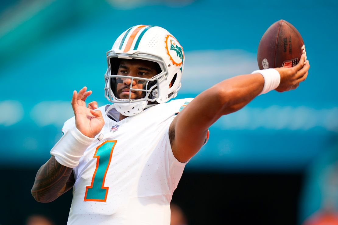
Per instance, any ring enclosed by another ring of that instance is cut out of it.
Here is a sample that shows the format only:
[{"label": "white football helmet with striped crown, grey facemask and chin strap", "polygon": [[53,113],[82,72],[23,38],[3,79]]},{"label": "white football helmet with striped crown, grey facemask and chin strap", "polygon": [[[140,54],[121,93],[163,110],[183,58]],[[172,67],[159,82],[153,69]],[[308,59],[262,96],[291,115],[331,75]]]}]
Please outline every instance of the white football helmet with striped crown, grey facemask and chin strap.
[{"label": "white football helmet with striped crown, grey facemask and chin strap", "polygon": [[[114,103],[116,110],[132,116],[156,103],[165,103],[176,97],[181,87],[184,67],[183,47],[167,30],[158,26],[137,25],[123,32],[107,52],[108,69],[104,75],[105,97]],[[118,76],[121,59],[142,59],[159,64],[158,74],[150,79]],[[116,96],[117,78],[131,79],[129,99]],[[143,83],[143,89],[132,88],[132,81]],[[169,84],[172,82],[171,87]],[[144,97],[131,99],[131,91],[142,91]]]}]

